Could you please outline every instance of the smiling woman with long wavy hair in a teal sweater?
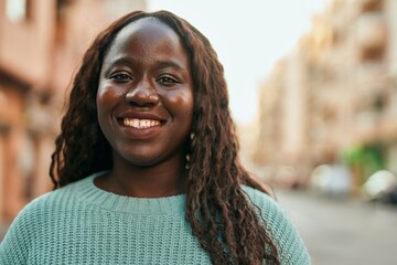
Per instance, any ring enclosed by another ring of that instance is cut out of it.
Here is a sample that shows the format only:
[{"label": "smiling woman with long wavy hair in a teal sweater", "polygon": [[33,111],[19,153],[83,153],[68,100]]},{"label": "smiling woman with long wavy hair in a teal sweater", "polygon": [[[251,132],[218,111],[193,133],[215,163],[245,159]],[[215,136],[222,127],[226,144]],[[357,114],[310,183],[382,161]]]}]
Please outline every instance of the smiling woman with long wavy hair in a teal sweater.
[{"label": "smiling woman with long wavy hair in a teal sweater", "polygon": [[52,156],[1,264],[309,264],[238,162],[223,66],[167,12],[132,12],[87,50]]}]

